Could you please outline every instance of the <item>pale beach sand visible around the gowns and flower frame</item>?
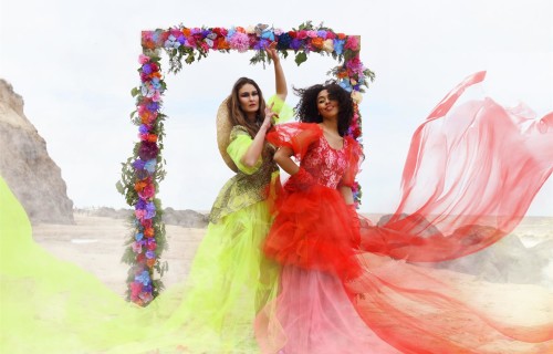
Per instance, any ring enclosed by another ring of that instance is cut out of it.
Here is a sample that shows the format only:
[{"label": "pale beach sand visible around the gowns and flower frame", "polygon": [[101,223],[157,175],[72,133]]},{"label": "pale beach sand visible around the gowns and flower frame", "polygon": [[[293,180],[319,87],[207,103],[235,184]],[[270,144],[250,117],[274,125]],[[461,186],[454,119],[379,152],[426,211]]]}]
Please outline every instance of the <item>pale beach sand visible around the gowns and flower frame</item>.
[{"label": "pale beach sand visible around the gowns and flower frame", "polygon": [[[374,218],[372,218],[374,220]],[[553,218],[524,220],[515,230],[524,243],[535,243],[536,239],[549,239],[553,229]],[[131,229],[125,220],[102,218],[75,214],[75,225],[35,225],[33,237],[46,250],[60,259],[71,261],[92,272],[109,289],[124,296],[126,290],[126,274],[128,266],[121,262],[124,242],[131,237]],[[164,252],[163,260],[167,261],[169,270],[164,275],[164,283],[170,287],[186,279],[194,254],[200,243],[206,229],[166,226],[169,249]],[[446,271],[446,274],[448,271]],[[467,279],[472,282],[472,277],[450,272],[456,281]],[[553,292],[541,287],[517,284],[483,284],[472,282],[470,287],[484,289],[482,293],[489,302],[487,306],[495,308],[501,313],[513,303],[535,302],[533,306],[525,306],[524,313],[511,311],[510,317],[519,317],[519,323],[524,323],[529,317],[546,323],[553,317]],[[539,302],[536,302],[539,301]],[[502,316],[501,316],[502,317]],[[531,322],[534,322],[531,321]],[[553,343],[551,343],[553,353]],[[508,353],[508,352],[505,352]],[[546,353],[546,352],[545,352]]]}]

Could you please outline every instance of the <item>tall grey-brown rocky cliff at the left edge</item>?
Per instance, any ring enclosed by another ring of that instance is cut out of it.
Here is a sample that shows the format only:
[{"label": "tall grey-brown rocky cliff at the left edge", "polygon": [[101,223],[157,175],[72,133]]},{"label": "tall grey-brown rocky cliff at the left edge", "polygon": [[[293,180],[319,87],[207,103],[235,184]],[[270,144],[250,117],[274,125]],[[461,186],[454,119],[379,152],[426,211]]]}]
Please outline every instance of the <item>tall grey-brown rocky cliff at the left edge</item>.
[{"label": "tall grey-brown rocky cliff at the left edge", "polygon": [[0,79],[0,175],[23,205],[32,223],[73,223],[61,169],[46,143],[23,113],[23,98]]}]

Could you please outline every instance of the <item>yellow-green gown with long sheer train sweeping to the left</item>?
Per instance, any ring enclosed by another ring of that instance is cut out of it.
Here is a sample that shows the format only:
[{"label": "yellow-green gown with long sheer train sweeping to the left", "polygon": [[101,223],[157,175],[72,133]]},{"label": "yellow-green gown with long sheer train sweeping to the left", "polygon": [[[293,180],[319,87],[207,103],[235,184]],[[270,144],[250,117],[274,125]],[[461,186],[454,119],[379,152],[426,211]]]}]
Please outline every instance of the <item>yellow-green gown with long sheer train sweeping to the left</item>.
[{"label": "yellow-green gown with long sheer train sweeping to the left", "polygon": [[243,127],[232,129],[239,171],[213,205],[186,282],[147,308],[34,243],[0,178],[0,353],[257,353],[252,321],[278,291],[279,268],[260,249],[278,168],[269,146],[243,166],[251,143]]}]

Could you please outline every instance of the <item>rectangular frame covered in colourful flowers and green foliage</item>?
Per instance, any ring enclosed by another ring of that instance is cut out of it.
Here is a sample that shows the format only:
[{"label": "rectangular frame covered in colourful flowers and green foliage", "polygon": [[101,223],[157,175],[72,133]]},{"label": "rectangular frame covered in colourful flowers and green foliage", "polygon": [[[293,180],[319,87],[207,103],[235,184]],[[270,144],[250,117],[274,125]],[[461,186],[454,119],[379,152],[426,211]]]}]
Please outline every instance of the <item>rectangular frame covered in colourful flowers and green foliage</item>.
[{"label": "rectangular frame covered in colourful flowers and green foliage", "polygon": [[[331,55],[342,64],[332,69],[328,74],[333,74],[337,83],[352,93],[354,100],[354,118],[347,134],[359,143],[362,128],[358,103],[364,87],[368,87],[368,82],[374,80],[374,73],[359,60],[359,37],[336,33],[322,24],[315,27],[311,21],[292,31],[267,24],[230,29],[178,25],[168,30],[144,31],[142,46],[143,54],[138,59],[140,85],[132,91],[136,98],[136,111],[131,114],[131,119],[138,126],[139,142],[135,145],[133,156],[123,164],[117,190],[135,208],[132,221],[134,232],[123,256],[123,261],[132,266],[127,278],[127,299],[139,305],[147,305],[164,288],[159,279],[154,279],[154,271],[160,278],[167,270],[167,263],[159,261],[166,249],[166,238],[163,209],[156,198],[158,183],[165,177],[161,150],[166,116],[161,113],[161,96],[166,84],[160,71],[159,50],[167,52],[169,72],[173,73],[182,69],[182,60],[191,64],[206,58],[209,51],[254,50],[255,54],[250,62],[261,62],[263,65],[265,61],[270,61],[264,51],[269,46],[275,48],[283,58],[293,51],[298,65],[305,62],[312,52]],[[354,184],[353,195],[356,205],[361,204],[358,183]]]}]

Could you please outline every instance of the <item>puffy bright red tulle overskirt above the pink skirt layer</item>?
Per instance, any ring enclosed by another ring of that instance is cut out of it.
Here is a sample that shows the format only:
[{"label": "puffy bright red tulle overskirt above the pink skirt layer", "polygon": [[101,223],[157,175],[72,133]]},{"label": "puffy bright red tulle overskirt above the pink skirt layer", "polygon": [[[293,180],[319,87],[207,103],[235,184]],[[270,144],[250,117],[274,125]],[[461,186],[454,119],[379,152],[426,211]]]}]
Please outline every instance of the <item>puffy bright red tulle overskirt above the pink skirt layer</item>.
[{"label": "puffy bright red tulle overskirt above the pink skirt layer", "polygon": [[284,190],[275,207],[276,217],[263,248],[268,258],[342,279],[359,274],[355,258],[358,230],[336,189],[315,185],[303,191]]}]

